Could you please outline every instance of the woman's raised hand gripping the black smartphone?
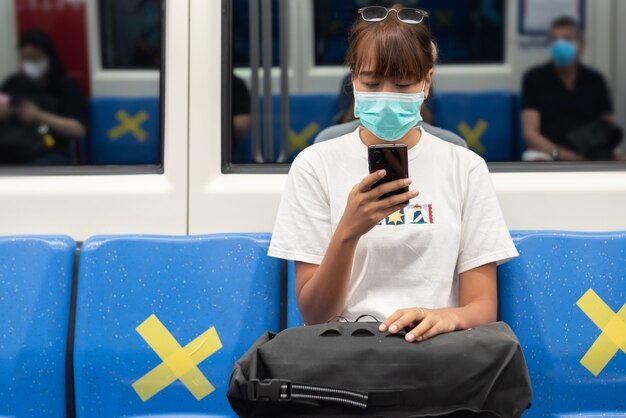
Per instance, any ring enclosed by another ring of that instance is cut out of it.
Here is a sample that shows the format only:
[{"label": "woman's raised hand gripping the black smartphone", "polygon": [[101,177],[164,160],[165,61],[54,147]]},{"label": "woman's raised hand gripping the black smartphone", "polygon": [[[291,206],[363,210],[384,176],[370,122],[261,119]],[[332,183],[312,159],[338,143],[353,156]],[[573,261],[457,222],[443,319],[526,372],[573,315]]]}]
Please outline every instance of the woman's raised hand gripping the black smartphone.
[{"label": "woman's raised hand gripping the black smartphone", "polygon": [[345,239],[358,240],[381,220],[405,207],[407,201],[419,194],[417,190],[409,190],[406,193],[378,200],[386,193],[411,184],[411,179],[401,179],[372,189],[372,186],[384,176],[385,170],[379,170],[368,175],[352,188],[348,195],[346,210],[337,226],[337,231],[341,231]]}]

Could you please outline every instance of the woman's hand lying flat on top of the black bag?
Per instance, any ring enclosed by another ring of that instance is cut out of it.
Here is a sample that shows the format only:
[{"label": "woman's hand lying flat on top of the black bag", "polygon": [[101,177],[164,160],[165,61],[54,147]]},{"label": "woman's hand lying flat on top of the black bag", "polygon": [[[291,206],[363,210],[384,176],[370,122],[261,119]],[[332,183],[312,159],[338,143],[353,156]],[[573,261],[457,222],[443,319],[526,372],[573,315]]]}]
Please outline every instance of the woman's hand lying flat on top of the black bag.
[{"label": "woman's hand lying flat on top of the black bag", "polygon": [[400,309],[387,318],[379,327],[381,332],[389,330],[395,334],[402,329],[408,342],[424,341],[438,334],[455,331],[459,318],[449,309],[408,308]]}]

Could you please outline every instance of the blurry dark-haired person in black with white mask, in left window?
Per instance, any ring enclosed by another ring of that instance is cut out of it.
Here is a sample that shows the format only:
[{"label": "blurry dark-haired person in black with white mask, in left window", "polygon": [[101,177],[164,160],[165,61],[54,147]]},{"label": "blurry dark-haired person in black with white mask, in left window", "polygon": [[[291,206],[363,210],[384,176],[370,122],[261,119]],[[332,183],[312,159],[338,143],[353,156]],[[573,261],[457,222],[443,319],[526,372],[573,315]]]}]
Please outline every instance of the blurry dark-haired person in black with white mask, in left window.
[{"label": "blurry dark-haired person in black with white mask, in left window", "polygon": [[83,92],[44,31],[23,32],[18,49],[19,72],[0,87],[0,163],[72,164],[87,131]]}]

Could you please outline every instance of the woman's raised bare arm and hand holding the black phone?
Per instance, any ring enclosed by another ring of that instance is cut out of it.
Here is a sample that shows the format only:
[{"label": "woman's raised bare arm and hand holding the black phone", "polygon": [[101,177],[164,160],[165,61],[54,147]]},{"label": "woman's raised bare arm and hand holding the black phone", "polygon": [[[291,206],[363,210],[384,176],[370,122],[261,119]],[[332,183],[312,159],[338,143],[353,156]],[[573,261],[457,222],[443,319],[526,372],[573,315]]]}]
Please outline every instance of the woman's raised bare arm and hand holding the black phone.
[{"label": "woman's raised bare arm and hand holding the black phone", "polygon": [[344,212],[350,215],[339,221],[321,264],[296,263],[296,297],[306,324],[323,323],[341,314],[359,239],[418,195],[411,190],[378,200],[385,193],[411,184],[411,180],[402,179],[372,189],[384,175],[384,170],[370,174],[354,186]]}]

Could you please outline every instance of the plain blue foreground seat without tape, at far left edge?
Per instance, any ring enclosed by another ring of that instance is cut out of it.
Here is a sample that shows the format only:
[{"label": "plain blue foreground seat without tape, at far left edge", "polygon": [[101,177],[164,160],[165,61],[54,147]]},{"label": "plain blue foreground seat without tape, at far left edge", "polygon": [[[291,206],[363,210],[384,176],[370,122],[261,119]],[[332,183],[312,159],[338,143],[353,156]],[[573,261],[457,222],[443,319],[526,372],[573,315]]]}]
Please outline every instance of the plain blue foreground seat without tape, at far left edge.
[{"label": "plain blue foreground seat without tape, at far left edge", "polygon": [[0,238],[0,416],[65,417],[76,243]]}]

